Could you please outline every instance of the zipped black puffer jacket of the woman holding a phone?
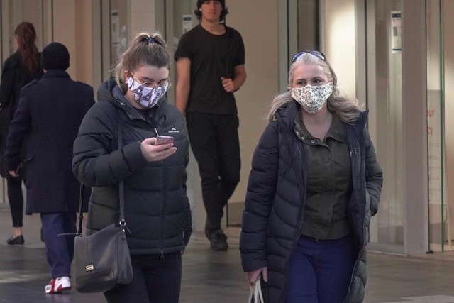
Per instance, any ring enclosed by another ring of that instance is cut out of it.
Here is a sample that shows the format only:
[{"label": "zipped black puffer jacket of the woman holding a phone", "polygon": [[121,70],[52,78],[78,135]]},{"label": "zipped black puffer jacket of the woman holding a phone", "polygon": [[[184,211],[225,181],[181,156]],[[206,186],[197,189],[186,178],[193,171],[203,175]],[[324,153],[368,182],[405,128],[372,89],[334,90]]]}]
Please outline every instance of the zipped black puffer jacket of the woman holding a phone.
[{"label": "zipped black puffer jacket of the woman holding a phone", "polygon": [[[192,233],[192,219],[186,194],[189,143],[182,114],[162,99],[145,119],[113,79],[101,84],[98,99],[82,121],[72,162],[77,178],[93,187],[87,234],[118,221],[118,183],[124,180],[131,254],[164,255],[184,250]],[[118,121],[123,130],[121,150]],[[165,160],[147,162],[140,142],[157,136],[156,131],[173,136],[177,152]]]}]

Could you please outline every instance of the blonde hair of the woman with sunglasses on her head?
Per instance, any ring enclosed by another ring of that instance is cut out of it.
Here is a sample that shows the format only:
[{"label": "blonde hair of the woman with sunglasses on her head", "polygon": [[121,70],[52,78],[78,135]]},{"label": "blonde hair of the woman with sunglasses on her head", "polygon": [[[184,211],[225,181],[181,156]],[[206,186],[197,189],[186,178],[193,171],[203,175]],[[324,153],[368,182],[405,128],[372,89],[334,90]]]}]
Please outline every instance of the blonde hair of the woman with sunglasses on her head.
[{"label": "blonde hair of the woman with sunglasses on her head", "polygon": [[[328,104],[328,110],[335,112],[339,118],[345,123],[353,123],[360,116],[360,107],[358,106],[357,99],[348,99],[345,95],[338,89],[338,79],[336,73],[334,72],[331,65],[328,61],[322,60],[321,57],[312,55],[310,53],[304,53],[299,56],[295,62],[292,63],[289,70],[289,86],[293,82],[294,70],[298,65],[301,64],[313,64],[319,65],[323,68],[323,71],[326,73],[328,80],[333,82],[333,93],[326,100]],[[272,101],[270,112],[267,115],[268,121],[275,120],[276,111],[290,101],[294,100],[292,97],[292,90],[289,89],[287,92],[278,94],[275,99]]]}]

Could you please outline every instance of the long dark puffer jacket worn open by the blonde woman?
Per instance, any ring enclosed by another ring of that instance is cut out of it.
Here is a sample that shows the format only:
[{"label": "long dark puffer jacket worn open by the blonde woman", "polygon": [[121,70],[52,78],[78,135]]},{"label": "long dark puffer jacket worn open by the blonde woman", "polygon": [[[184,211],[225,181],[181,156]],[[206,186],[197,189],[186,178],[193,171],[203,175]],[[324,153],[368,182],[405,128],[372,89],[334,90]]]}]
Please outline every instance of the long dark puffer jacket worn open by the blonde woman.
[{"label": "long dark puffer jacket worn open by the blonde woman", "polygon": [[[243,212],[240,251],[243,270],[267,266],[270,302],[284,302],[289,258],[300,236],[306,199],[307,163],[304,147],[294,132],[299,109],[292,101],[277,112],[255,148]],[[366,249],[370,217],[377,213],[382,170],[362,113],[355,125],[345,125],[350,149],[353,191],[348,217],[358,257],[344,302],[362,302],[366,282]]]}]

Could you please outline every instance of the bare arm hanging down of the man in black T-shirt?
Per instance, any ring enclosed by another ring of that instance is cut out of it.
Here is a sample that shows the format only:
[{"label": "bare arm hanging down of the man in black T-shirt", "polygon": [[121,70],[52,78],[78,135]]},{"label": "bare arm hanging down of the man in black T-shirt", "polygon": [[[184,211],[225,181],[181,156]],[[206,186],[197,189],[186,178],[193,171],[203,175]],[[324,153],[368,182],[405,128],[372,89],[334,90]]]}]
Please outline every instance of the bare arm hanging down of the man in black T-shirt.
[{"label": "bare arm hanging down of the man in black T-shirt", "polygon": [[175,92],[175,106],[186,114],[189,91],[191,90],[191,60],[188,57],[179,57],[177,60],[177,89]]}]

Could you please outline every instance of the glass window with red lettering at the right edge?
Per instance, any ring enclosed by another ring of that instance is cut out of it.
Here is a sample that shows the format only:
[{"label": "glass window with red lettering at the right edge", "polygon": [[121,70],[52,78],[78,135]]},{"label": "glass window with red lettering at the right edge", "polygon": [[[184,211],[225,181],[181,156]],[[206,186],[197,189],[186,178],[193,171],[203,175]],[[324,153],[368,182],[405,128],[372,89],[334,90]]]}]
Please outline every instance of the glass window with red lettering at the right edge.
[{"label": "glass window with red lettering at the right edge", "polygon": [[[450,8],[449,8],[450,7]],[[452,205],[454,192],[446,184],[454,180],[453,123],[448,119],[454,112],[450,100],[452,87],[445,86],[453,79],[454,22],[445,18],[445,10],[454,9],[452,1],[427,0],[427,140],[429,243],[431,250],[453,250]]]}]

